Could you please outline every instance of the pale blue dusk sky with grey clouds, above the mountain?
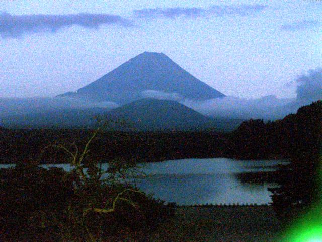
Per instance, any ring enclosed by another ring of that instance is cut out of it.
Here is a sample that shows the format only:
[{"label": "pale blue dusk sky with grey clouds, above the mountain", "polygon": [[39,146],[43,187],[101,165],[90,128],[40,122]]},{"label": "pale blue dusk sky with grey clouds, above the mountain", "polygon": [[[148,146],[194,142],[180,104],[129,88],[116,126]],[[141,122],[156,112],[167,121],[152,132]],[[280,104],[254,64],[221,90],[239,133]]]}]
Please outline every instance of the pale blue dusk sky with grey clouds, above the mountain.
[{"label": "pale blue dusk sky with grey clouds, above the mountain", "polygon": [[320,1],[0,1],[0,97],[75,91],[163,52],[229,96],[294,97],[322,67]]}]

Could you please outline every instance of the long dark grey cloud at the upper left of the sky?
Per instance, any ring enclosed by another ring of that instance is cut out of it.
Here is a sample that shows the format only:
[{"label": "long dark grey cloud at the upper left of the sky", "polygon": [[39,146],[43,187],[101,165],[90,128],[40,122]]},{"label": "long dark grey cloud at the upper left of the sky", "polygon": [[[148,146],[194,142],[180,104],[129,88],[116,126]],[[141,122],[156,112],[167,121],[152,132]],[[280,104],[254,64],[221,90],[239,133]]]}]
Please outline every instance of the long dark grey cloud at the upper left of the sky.
[{"label": "long dark grey cloud at the upper left of the sky", "polygon": [[0,13],[0,35],[3,38],[19,38],[27,33],[56,32],[71,25],[98,28],[103,24],[124,27],[133,26],[132,22],[127,19],[118,15],[108,14],[11,15],[9,13]]}]

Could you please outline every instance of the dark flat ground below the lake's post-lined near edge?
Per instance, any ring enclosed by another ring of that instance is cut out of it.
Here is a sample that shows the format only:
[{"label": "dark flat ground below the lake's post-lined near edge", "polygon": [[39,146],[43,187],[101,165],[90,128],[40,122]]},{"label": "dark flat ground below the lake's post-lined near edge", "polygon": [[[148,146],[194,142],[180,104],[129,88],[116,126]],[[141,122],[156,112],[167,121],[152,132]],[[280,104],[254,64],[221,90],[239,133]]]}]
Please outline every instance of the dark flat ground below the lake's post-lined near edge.
[{"label": "dark flat ground below the lake's post-lined near edge", "polygon": [[169,222],[149,235],[149,241],[284,241],[280,232],[270,206],[180,207]]}]

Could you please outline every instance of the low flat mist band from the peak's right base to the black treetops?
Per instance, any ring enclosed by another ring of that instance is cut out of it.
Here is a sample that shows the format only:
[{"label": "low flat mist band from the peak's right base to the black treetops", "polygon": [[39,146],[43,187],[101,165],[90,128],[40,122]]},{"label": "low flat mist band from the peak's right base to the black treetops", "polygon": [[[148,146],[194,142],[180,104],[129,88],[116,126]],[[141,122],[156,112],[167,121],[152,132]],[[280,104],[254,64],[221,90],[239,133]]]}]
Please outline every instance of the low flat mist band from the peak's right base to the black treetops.
[{"label": "low flat mist band from the peak's right base to the black treetops", "polygon": [[238,97],[214,98],[196,101],[185,98],[178,93],[167,93],[157,90],[145,90],[142,97],[177,101],[195,111],[216,118],[273,120],[283,118],[291,112],[296,112],[298,106],[288,106],[294,99],[279,99],[273,95],[246,99]]}]

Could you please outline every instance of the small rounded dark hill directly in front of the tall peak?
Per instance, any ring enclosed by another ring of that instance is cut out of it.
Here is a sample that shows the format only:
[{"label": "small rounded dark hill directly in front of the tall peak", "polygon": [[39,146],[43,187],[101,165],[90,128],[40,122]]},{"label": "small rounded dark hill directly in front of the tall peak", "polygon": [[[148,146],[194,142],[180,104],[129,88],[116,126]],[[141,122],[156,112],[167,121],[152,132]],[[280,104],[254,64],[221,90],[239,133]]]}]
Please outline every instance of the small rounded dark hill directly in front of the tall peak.
[{"label": "small rounded dark hill directly in front of the tall peak", "polygon": [[140,99],[107,113],[108,120],[124,122],[122,129],[139,131],[155,130],[204,130],[213,129],[213,119],[170,100]]}]

